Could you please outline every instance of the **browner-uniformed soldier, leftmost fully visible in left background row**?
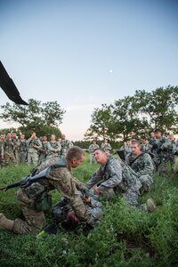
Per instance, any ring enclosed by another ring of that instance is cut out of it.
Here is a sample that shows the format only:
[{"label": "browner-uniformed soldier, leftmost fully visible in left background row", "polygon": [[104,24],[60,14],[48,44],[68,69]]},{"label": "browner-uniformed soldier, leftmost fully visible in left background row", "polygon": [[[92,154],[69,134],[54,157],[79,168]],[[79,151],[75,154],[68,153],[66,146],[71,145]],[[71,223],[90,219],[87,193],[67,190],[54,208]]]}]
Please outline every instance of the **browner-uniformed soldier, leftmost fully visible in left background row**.
[{"label": "browner-uniformed soldier, leftmost fully visible in left background row", "polygon": [[14,147],[12,142],[12,134],[8,132],[4,139],[4,163],[6,166],[16,164],[16,159],[13,154]]}]

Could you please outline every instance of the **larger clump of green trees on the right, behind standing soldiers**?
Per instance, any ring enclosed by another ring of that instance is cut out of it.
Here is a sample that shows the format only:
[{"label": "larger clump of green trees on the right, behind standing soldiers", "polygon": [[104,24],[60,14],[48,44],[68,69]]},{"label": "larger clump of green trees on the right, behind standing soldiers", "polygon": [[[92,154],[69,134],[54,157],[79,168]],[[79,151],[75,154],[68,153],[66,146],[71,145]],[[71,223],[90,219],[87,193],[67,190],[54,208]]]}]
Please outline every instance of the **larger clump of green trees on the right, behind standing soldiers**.
[{"label": "larger clump of green trees on the right, behind standing soldiers", "polygon": [[93,110],[92,124],[85,139],[109,138],[126,141],[146,137],[154,128],[178,134],[178,86],[168,85],[155,91],[135,91],[109,105]]}]

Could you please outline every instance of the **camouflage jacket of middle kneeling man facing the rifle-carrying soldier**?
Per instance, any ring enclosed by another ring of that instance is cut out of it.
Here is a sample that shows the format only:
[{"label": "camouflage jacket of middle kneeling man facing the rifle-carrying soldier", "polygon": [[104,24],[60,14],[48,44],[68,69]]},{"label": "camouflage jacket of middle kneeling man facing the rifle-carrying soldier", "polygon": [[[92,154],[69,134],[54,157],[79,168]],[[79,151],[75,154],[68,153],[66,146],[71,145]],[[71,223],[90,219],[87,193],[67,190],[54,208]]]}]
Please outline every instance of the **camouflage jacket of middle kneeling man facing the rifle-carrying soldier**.
[{"label": "camouflage jacket of middle kneeling man facing the rifle-carrying soldier", "polygon": [[[100,182],[100,184],[98,184]],[[137,174],[120,158],[109,157],[105,166],[101,166],[86,183],[86,188],[90,190],[94,185],[98,188],[114,188],[118,191],[130,190],[139,192],[142,183],[138,180]]]}]

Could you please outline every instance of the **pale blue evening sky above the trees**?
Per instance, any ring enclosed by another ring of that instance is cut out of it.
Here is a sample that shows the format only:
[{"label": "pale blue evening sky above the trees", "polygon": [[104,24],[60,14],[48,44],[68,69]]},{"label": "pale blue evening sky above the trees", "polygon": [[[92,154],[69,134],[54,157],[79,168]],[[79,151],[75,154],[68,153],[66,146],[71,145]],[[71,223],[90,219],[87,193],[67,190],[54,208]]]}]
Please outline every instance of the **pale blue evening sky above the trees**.
[{"label": "pale blue evening sky above the trees", "polygon": [[178,85],[178,1],[0,0],[0,32],[22,99],[58,101],[73,141],[102,103]]}]

